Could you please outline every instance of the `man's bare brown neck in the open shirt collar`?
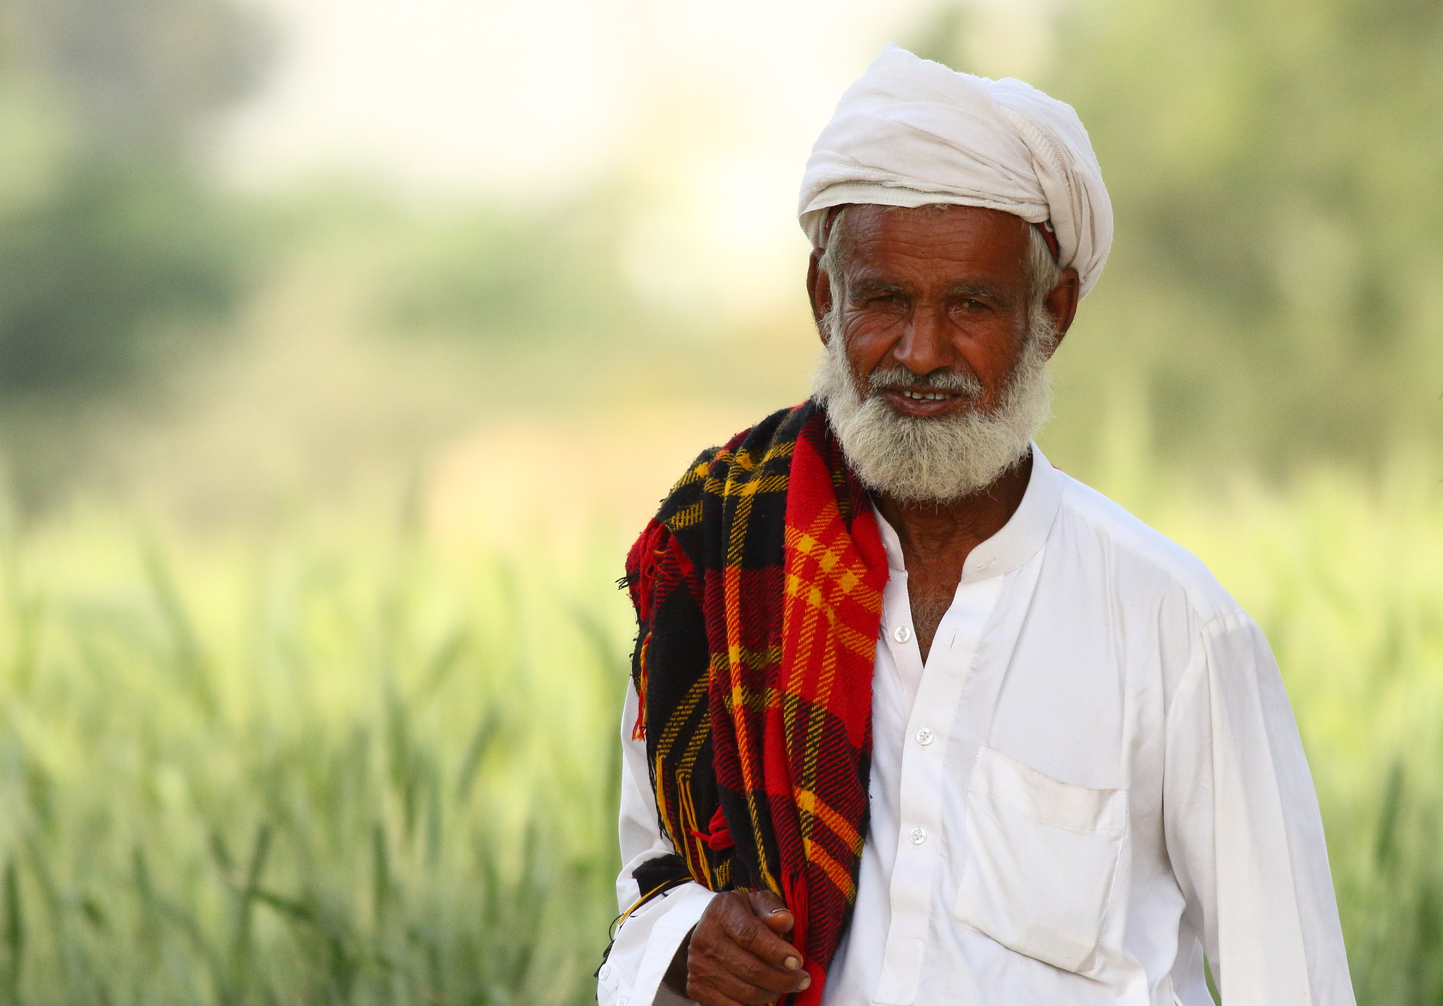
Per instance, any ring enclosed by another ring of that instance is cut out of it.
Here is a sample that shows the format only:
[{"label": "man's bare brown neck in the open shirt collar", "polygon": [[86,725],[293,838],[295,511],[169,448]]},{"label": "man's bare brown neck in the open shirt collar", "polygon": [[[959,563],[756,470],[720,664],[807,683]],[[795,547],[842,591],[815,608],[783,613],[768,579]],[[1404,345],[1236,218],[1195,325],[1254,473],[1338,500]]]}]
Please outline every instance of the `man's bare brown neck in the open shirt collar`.
[{"label": "man's bare brown neck in the open shirt collar", "polygon": [[952,604],[971,551],[1001,530],[1022,506],[1032,478],[1032,454],[990,486],[952,503],[903,503],[877,494],[877,509],[898,533],[906,562],[912,627],[922,660]]}]

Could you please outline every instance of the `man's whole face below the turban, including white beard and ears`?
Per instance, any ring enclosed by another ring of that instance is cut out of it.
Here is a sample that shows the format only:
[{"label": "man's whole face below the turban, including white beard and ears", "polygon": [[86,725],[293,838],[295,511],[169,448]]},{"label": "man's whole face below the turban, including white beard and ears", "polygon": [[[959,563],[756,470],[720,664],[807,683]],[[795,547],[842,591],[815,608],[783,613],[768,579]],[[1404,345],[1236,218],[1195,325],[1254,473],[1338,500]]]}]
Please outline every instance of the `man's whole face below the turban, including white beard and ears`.
[{"label": "man's whole face below the turban, including white beard and ears", "polygon": [[987,209],[851,206],[833,239],[841,275],[817,257],[808,275],[827,343],[812,391],[853,471],[916,503],[984,489],[1046,419],[1076,272],[1029,304],[1027,225]]}]

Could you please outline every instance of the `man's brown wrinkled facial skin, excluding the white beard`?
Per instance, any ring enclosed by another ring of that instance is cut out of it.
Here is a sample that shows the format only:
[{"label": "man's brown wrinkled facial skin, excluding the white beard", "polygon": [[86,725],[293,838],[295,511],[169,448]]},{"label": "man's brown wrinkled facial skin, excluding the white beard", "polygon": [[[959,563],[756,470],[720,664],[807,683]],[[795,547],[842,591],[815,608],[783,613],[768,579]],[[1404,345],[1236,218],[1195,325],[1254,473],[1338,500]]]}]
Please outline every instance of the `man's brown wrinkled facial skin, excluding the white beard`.
[{"label": "man's brown wrinkled facial skin, excluding the white beard", "polygon": [[[880,368],[887,380],[872,393],[898,414],[996,409],[1027,336],[1027,223],[975,206],[846,212],[844,284],[827,294],[856,386]],[[909,379],[938,370],[973,391]]]}]

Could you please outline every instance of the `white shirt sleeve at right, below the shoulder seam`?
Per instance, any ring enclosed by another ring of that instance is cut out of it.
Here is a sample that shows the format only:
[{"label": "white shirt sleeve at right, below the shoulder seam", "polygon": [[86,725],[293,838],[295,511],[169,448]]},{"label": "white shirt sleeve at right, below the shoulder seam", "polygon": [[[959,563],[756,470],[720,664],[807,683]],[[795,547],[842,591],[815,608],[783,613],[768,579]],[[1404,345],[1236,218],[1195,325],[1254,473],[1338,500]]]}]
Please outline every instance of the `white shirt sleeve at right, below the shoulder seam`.
[{"label": "white shirt sleeve at right, below the shoulder seam", "polygon": [[1173,696],[1163,807],[1183,925],[1222,1002],[1352,1006],[1313,780],[1277,662],[1241,613],[1201,628]]}]

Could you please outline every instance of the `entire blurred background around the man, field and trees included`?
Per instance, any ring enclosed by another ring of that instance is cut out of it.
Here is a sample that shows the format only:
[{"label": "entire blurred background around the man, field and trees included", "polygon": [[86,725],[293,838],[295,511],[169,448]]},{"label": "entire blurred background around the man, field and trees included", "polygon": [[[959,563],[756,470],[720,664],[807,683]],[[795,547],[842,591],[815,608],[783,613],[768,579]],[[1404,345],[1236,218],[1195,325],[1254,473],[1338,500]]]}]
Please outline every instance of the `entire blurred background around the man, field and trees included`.
[{"label": "entire blurred background around the man, field and trees included", "polygon": [[1268,631],[1359,1000],[1443,1003],[1443,7],[0,6],[0,1002],[583,1003],[629,535],[805,396],[883,43],[1115,212],[1049,457]]}]

